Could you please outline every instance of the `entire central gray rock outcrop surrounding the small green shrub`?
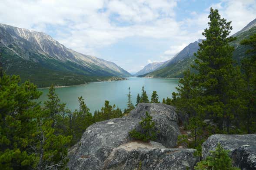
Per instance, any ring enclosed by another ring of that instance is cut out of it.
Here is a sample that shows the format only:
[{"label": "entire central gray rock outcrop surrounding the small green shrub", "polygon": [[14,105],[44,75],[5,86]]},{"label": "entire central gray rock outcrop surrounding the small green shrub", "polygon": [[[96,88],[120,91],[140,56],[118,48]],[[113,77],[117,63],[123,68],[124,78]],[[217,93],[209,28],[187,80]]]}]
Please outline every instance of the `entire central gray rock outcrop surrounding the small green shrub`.
[{"label": "entire central gray rock outcrop surrounding the small green shrub", "polygon": [[[160,131],[159,142],[134,141],[129,131],[149,111]],[[69,150],[70,170],[186,170],[198,161],[193,149],[176,146],[180,134],[173,107],[139,104],[124,118],[97,122],[86,129],[81,140]]]}]

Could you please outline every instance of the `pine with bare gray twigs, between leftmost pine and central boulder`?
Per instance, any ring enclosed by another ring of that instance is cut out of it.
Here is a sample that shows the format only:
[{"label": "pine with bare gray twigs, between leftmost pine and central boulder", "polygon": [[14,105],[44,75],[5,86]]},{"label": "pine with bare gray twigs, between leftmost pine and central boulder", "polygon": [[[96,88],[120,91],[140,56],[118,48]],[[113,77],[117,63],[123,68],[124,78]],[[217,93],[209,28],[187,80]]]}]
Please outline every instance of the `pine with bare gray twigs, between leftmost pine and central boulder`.
[{"label": "pine with bare gray twigs, between leftmost pine and central boulder", "polygon": [[44,117],[41,112],[37,115],[37,128],[33,134],[37,141],[33,144],[33,154],[37,157],[36,169],[52,170],[64,169],[67,158],[67,146],[72,136],[55,134],[55,129],[51,126],[53,120]]}]

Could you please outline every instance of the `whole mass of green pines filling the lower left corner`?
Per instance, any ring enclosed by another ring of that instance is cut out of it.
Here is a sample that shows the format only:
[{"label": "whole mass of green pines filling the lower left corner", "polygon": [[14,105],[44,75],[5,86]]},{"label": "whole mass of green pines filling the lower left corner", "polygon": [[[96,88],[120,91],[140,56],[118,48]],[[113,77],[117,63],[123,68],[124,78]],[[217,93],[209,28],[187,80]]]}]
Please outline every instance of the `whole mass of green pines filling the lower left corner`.
[{"label": "whole mass of green pines filling the lower left corner", "polygon": [[41,95],[19,76],[0,78],[0,169],[59,168],[67,163],[71,137],[55,133],[50,112],[35,101]]}]

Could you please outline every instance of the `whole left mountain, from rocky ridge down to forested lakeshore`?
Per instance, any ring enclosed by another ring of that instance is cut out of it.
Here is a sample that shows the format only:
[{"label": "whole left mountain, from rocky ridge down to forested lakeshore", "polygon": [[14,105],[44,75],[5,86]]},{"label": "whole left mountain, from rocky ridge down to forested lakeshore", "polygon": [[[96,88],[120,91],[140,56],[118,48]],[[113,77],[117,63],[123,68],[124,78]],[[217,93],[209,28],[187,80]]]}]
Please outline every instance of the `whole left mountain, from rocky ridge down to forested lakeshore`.
[{"label": "whole left mountain, from rocky ridge down to forested lakeshore", "polygon": [[39,86],[130,76],[115,63],[66,48],[45,33],[0,24],[0,37],[7,73],[18,73],[22,79],[30,79]]}]

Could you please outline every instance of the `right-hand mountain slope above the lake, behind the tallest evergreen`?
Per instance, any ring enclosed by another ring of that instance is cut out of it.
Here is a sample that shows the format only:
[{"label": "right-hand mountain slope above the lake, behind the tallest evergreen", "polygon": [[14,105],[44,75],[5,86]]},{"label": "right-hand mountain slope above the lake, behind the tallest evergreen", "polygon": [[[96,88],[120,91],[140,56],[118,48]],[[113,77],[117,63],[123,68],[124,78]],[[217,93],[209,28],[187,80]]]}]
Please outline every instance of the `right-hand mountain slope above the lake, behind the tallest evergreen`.
[{"label": "right-hand mountain slope above the lake, behind the tallest evergreen", "polygon": [[[256,33],[256,19],[250,22],[247,26],[241,29],[239,32],[233,34],[236,40],[230,42],[231,46],[235,47],[233,52],[233,58],[239,63],[240,60],[245,56],[247,50],[246,46],[241,46],[240,41],[242,39],[248,39],[249,36]],[[183,72],[190,68],[190,65],[194,63],[196,57],[193,53],[197,52],[199,49],[198,44],[202,42],[199,39],[195,42],[190,43],[183,50],[177,53],[173,59],[163,62],[157,69],[151,72],[145,73],[143,75],[138,75],[138,77],[158,77],[158,78],[181,78],[183,77]]]}]

